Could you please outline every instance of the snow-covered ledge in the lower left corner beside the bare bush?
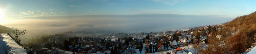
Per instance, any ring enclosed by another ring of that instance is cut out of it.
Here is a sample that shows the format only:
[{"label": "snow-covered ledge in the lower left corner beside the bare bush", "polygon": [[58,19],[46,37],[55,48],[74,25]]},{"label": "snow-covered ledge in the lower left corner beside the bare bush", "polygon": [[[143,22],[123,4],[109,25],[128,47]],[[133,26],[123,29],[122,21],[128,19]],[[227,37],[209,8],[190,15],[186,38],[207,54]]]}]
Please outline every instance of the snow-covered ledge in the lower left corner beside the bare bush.
[{"label": "snow-covered ledge in the lower left corner beside the bare bush", "polygon": [[7,33],[0,33],[0,54],[27,54]]}]

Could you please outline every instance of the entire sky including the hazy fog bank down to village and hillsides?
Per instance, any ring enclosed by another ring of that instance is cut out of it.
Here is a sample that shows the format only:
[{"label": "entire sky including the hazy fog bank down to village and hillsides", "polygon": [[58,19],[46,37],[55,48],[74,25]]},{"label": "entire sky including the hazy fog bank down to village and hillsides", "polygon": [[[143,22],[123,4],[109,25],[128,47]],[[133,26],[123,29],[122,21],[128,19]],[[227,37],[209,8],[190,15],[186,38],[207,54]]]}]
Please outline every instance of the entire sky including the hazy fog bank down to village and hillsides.
[{"label": "entire sky including the hazy fog bank down to village and hillsides", "polygon": [[0,25],[36,31],[164,30],[255,12],[254,0],[0,0]]}]

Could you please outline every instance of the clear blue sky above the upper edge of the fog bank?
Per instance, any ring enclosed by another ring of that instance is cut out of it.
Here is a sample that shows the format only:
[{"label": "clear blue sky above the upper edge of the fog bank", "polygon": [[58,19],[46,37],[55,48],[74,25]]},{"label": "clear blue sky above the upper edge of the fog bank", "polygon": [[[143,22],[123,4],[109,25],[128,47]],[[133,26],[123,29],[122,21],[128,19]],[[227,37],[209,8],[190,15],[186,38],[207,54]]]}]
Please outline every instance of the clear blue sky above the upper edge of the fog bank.
[{"label": "clear blue sky above the upper edge of the fog bank", "polygon": [[[0,0],[4,18],[67,15],[224,15],[236,17],[255,11],[245,0]],[[37,14],[29,13],[28,11]],[[23,15],[27,12],[30,15]],[[47,13],[42,14],[41,12]],[[53,12],[53,14],[51,13]],[[63,13],[61,13],[63,12]],[[56,14],[54,14],[56,13]],[[17,16],[21,15],[21,16]]]}]

